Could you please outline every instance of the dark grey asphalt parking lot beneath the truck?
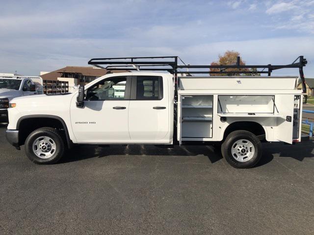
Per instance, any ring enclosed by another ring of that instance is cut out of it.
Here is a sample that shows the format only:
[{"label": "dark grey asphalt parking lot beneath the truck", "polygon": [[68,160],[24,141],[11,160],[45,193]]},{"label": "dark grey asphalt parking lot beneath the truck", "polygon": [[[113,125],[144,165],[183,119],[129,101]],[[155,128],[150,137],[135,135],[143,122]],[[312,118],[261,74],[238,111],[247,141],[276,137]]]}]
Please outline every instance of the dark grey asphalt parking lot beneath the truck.
[{"label": "dark grey asphalt parking lot beneath the truck", "polygon": [[314,234],[314,142],[235,169],[208,146],[78,146],[36,165],[0,126],[0,234]]}]

